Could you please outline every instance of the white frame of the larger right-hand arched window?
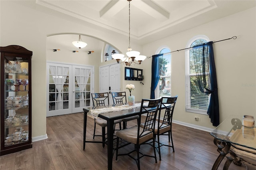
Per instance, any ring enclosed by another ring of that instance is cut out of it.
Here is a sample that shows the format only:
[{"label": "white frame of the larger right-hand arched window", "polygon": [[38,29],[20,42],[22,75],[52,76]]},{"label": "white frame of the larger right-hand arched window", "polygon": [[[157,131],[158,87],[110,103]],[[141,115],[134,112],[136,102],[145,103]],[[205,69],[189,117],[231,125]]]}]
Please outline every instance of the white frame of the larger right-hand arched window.
[{"label": "white frame of the larger right-hand arched window", "polygon": [[[206,40],[207,42],[210,42],[209,38],[204,35],[198,35],[194,36],[192,39],[190,39],[186,45],[186,48],[189,48],[193,42],[196,40],[203,39]],[[190,49],[185,51],[185,73],[186,73],[186,112],[192,112],[192,113],[199,113],[199,114],[204,114],[207,115],[207,110],[203,109],[193,109],[191,108],[190,105],[190,76],[195,76],[196,73],[191,74],[190,73]],[[210,95],[208,95],[208,104],[210,101]]]}]

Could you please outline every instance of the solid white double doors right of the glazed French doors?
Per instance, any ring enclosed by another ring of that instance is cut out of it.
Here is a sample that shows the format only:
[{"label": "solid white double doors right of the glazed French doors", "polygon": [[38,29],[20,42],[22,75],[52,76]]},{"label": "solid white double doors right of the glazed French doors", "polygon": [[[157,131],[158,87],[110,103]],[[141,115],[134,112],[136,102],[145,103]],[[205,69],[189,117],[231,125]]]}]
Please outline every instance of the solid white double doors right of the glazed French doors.
[{"label": "solid white double doors right of the glazed French doors", "polygon": [[109,93],[109,103],[113,104],[111,92],[120,92],[120,64],[100,67],[100,93]]}]

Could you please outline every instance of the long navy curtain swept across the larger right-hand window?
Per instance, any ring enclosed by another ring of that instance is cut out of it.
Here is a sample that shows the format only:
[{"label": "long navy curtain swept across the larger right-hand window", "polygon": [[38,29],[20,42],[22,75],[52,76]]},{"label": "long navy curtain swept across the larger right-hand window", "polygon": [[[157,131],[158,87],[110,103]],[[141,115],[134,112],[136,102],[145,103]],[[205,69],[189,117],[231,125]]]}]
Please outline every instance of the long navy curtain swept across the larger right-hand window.
[{"label": "long navy curtain swept across the larger right-hand window", "polygon": [[207,114],[213,126],[220,124],[219,99],[216,67],[214,62],[213,42],[193,47],[194,65],[199,89],[210,96]]}]

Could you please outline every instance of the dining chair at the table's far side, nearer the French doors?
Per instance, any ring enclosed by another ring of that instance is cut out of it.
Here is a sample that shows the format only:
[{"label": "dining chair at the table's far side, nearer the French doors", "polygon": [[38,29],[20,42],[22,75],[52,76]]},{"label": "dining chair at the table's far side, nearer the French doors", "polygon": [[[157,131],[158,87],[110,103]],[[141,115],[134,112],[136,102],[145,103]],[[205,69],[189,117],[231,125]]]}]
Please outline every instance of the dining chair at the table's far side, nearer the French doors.
[{"label": "dining chair at the table's far side, nearer the French doors", "polygon": [[[93,106],[105,106],[105,105],[109,105],[109,97],[108,97],[108,93],[91,93],[92,95],[92,103]],[[114,129],[117,123],[119,123],[119,127],[121,130],[121,119],[115,120],[114,121]],[[102,135],[96,135],[95,134],[95,130],[96,130],[96,124],[100,125],[102,127]],[[102,136],[102,146],[103,148],[105,147],[105,143],[106,143],[106,126],[107,126],[107,121],[97,117],[96,119],[94,118],[94,131],[93,131],[93,139],[95,136]]]}]

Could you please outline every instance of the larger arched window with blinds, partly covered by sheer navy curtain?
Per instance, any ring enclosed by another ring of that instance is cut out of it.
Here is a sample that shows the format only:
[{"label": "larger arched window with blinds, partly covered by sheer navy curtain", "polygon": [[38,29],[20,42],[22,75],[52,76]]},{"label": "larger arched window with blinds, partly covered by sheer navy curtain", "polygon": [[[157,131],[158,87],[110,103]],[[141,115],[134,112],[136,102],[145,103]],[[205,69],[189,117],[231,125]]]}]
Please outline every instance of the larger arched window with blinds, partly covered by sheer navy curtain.
[{"label": "larger arched window with blinds, partly covered by sheer navy curtain", "polygon": [[[196,37],[190,42],[188,47],[194,47],[206,42],[209,42],[208,38],[203,36]],[[186,111],[206,114],[210,95],[202,93],[199,89],[192,51],[192,49],[186,51]]]}]

